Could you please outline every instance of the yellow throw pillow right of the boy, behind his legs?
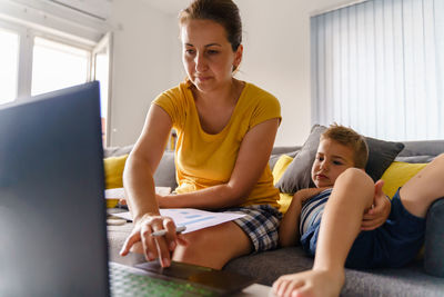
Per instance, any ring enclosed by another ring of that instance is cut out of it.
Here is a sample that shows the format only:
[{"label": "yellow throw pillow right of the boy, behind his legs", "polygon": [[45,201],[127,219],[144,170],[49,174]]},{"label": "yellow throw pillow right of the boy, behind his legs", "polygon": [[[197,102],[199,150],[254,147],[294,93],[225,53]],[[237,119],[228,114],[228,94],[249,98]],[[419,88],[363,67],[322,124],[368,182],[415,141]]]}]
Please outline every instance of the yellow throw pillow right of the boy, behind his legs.
[{"label": "yellow throw pillow right of the boy, behind his legs", "polygon": [[400,187],[404,186],[405,182],[420,172],[426,165],[427,164],[392,162],[381,177],[381,179],[384,180],[382,190],[392,198]]}]

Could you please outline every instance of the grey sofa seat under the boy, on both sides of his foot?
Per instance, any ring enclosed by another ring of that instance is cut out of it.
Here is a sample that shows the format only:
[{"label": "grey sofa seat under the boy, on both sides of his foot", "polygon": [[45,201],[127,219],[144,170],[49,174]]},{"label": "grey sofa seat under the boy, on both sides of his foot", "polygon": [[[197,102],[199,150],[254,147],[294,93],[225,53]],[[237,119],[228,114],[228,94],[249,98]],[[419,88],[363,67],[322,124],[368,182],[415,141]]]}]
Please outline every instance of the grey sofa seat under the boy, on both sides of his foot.
[{"label": "grey sofa seat under the boy, on both sides of his foot", "polygon": [[[424,274],[422,264],[415,260],[403,268],[345,268],[341,296],[442,296],[443,279]],[[235,258],[223,269],[253,276],[259,284],[271,286],[282,275],[304,271],[312,266],[313,259],[301,247],[287,247]]]}]

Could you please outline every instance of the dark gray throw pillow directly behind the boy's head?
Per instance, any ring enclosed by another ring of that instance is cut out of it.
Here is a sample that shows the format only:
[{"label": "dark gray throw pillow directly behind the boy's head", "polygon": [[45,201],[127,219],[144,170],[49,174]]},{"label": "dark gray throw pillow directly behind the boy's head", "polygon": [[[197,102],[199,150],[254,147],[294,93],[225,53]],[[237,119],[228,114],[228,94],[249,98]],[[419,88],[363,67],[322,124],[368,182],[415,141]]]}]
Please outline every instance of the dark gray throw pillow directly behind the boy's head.
[{"label": "dark gray throw pillow directly behind the boy's head", "polygon": [[[316,157],[320,137],[325,130],[324,126],[313,126],[305,143],[275,185],[281,192],[294,194],[300,189],[315,187],[311,178],[311,169]],[[376,181],[404,148],[404,145],[370,137],[365,139],[369,146],[369,161],[365,171]]]}]

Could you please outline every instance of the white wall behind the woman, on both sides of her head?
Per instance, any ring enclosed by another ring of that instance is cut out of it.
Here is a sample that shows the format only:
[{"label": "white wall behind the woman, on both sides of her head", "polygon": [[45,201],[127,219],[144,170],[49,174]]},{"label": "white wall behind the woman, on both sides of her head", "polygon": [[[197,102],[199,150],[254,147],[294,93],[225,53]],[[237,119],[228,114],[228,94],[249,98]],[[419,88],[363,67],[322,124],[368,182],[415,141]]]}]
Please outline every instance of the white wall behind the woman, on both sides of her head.
[{"label": "white wall behind the woman, on both sides of her head", "polygon": [[[115,32],[111,145],[132,143],[152,99],[184,72],[178,11],[157,0],[114,0]],[[150,1],[157,1],[155,7]],[[275,145],[302,145],[311,128],[310,16],[352,0],[236,0],[244,26],[239,78],[274,93],[283,121]]]}]

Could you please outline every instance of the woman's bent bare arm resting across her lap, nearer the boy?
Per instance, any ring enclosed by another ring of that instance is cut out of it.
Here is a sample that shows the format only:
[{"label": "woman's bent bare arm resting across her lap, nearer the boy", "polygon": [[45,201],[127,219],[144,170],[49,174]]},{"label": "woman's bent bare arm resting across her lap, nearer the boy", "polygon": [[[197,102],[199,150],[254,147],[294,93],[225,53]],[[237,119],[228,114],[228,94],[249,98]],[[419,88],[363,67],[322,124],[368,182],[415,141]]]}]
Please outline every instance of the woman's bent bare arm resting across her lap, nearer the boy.
[{"label": "woman's bent bare arm resting across her lap, nearer the boy", "polygon": [[279,119],[270,119],[254,126],[245,135],[226,184],[189,194],[159,197],[159,206],[216,209],[242,204],[269,162],[278,127]]}]

